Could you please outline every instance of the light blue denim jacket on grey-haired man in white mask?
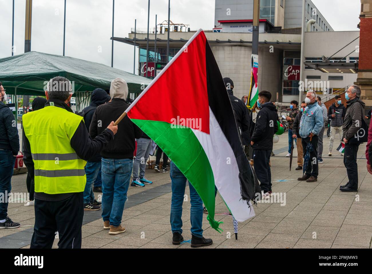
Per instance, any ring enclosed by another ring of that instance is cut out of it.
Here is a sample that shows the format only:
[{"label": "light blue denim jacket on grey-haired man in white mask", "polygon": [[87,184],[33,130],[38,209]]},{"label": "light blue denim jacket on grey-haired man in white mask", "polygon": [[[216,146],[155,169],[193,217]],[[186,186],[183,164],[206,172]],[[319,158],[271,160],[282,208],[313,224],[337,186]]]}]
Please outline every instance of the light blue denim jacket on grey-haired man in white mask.
[{"label": "light blue denim jacket on grey-haired man in white mask", "polygon": [[304,114],[301,117],[299,134],[302,138],[306,138],[312,133],[319,135],[323,128],[323,111],[317,102],[308,105],[305,108]]}]

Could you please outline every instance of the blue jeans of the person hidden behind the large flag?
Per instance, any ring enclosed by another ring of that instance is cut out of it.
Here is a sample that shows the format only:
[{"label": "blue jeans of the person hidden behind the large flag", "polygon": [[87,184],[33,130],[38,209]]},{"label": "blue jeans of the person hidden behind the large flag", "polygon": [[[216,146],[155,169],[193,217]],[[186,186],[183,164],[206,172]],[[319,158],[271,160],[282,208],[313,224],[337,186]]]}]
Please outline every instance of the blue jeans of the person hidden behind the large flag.
[{"label": "blue jeans of the person hidden behind the large flag", "polygon": [[[182,172],[170,162],[170,179],[172,180],[172,202],[170,207],[170,225],[172,233],[179,232],[182,234],[182,204],[185,195],[186,177]],[[190,221],[191,221],[191,234],[196,237],[203,237],[203,201],[198,192],[190,184]]]}]

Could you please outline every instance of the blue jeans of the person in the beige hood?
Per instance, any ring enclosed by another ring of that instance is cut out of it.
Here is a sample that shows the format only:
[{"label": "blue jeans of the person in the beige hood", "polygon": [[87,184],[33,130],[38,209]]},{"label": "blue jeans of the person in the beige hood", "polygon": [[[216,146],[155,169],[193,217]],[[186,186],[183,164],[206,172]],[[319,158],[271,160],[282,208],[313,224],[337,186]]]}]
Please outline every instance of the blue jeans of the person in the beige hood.
[{"label": "blue jeans of the person in the beige hood", "polygon": [[133,167],[132,159],[102,158],[102,218],[119,226]]}]

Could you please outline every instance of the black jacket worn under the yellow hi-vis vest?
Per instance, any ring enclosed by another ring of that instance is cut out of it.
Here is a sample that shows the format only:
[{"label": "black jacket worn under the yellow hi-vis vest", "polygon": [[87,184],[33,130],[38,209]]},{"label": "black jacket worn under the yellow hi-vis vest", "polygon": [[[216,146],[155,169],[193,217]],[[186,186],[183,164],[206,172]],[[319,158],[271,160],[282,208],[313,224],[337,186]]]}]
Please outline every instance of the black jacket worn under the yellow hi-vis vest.
[{"label": "black jacket worn under the yellow hi-vis vest", "polygon": [[[54,106],[64,108],[66,111],[73,112],[71,108],[62,101],[59,100],[48,100],[45,106],[50,106],[50,102],[54,102]],[[35,125],[37,126],[37,125]],[[106,126],[107,127],[107,126]],[[111,130],[104,128],[102,134],[92,140],[90,138],[87,128],[84,122],[81,121],[78,125],[73,137],[71,137],[70,145],[75,150],[77,156],[83,160],[89,160],[94,154],[99,153],[111,140],[114,138],[114,134]],[[25,131],[23,131],[23,162],[27,167],[27,171],[32,180],[35,178],[34,164],[32,160],[31,145],[26,137]],[[35,192],[35,198],[45,201],[61,201],[64,200],[74,193],[63,193],[63,194],[46,194],[44,192]]]}]

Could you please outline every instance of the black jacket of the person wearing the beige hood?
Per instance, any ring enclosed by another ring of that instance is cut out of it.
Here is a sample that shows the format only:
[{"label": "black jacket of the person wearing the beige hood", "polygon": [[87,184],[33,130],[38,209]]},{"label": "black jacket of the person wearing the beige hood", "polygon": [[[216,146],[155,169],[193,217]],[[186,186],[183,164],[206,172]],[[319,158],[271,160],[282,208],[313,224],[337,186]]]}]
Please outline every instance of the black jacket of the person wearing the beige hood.
[{"label": "black jacket of the person wearing the beige hood", "polygon": [[[94,138],[100,134],[111,121],[116,121],[128,106],[125,100],[120,98],[113,98],[111,102],[98,106],[90,124],[90,136]],[[100,124],[97,124],[97,121],[100,121]],[[142,130],[125,116],[118,124],[115,140],[102,150],[101,156],[108,159],[133,159],[135,138],[141,136]]]}]

